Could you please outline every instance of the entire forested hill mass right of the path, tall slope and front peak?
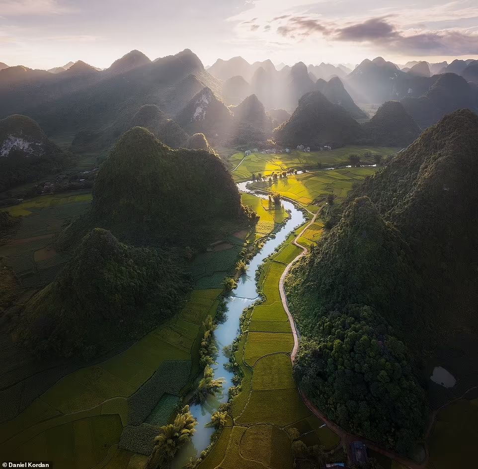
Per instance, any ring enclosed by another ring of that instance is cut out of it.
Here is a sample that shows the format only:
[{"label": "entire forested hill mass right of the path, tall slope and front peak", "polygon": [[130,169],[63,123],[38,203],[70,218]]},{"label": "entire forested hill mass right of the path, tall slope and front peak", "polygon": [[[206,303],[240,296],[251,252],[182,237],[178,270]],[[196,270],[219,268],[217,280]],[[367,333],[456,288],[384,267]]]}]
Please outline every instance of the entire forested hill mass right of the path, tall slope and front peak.
[{"label": "entire forested hill mass right of the path, tall slope and front peak", "polygon": [[287,279],[301,386],[332,420],[405,453],[426,414],[416,365],[478,337],[477,149],[473,112],[443,118],[355,189]]}]

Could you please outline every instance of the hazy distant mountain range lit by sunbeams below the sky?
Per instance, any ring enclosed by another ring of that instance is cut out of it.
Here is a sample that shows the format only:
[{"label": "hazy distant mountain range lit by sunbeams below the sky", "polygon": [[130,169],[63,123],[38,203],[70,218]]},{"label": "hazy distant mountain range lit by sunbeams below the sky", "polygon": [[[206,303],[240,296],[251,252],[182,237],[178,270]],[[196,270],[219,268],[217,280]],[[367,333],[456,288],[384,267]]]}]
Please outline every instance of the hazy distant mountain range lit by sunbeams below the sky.
[{"label": "hazy distant mountain range lit by sunbeams below the sky", "polygon": [[[325,99],[321,100],[322,107],[336,110],[339,106],[345,114],[337,112],[347,116],[347,121],[368,118],[357,103],[401,101],[405,114],[421,128],[459,108],[478,110],[478,61],[456,60],[449,65],[416,61],[400,70],[377,57],[364,60],[353,70],[349,66],[306,66],[298,62],[278,70],[270,60],[249,64],[234,57],[218,60],[206,71],[199,58],[186,49],[154,61],[134,50],[101,71],[82,61],[50,71],[6,67],[0,70],[0,118],[28,115],[48,135],[73,133],[73,150],[90,152],[111,147],[123,132],[145,117],[141,109],[154,111],[144,125],[176,148],[197,133],[204,134],[213,147],[245,142],[247,138],[257,143],[269,138],[272,128],[289,121],[288,116],[303,96],[315,91]],[[439,67],[443,73],[436,74]],[[312,96],[316,95],[309,94]],[[317,104],[317,100],[314,102]],[[247,103],[254,104],[253,114],[265,116],[259,119],[263,124],[257,132],[234,115],[249,108]],[[303,109],[305,104],[302,102]],[[274,116],[273,110],[281,114]],[[343,123],[343,119],[338,122]],[[382,140],[378,127],[374,129],[373,140]],[[349,140],[347,132],[340,138],[337,132],[334,135],[328,143]],[[404,139],[393,140],[407,141],[406,135],[404,132]],[[310,136],[309,142],[322,141],[322,137],[317,140],[317,135]]]}]

